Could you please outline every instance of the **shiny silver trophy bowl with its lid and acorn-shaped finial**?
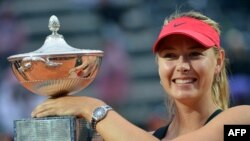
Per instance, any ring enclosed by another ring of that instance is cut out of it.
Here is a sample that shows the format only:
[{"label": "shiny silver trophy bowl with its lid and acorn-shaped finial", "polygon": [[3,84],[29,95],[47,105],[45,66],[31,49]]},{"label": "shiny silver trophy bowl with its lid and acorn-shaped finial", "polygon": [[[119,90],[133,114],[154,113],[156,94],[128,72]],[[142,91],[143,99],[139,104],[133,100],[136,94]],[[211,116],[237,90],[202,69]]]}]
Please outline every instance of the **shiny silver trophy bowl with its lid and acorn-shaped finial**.
[{"label": "shiny silver trophy bowl with its lid and acorn-shaped finial", "polygon": [[103,52],[69,46],[56,16],[51,16],[47,36],[38,50],[8,57],[18,81],[31,92],[50,97],[75,94],[96,77]]}]

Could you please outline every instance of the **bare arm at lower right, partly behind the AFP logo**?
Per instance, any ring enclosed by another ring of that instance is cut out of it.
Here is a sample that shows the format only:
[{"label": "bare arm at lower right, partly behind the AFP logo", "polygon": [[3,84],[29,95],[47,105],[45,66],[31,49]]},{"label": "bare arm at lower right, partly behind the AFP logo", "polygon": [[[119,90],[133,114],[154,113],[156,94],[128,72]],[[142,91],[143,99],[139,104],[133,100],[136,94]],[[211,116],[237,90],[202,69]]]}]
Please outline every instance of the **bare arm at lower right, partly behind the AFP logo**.
[{"label": "bare arm at lower right, partly behind the AFP logo", "polygon": [[173,141],[223,141],[225,124],[250,124],[250,106],[236,106],[225,110],[211,122],[192,133]]}]

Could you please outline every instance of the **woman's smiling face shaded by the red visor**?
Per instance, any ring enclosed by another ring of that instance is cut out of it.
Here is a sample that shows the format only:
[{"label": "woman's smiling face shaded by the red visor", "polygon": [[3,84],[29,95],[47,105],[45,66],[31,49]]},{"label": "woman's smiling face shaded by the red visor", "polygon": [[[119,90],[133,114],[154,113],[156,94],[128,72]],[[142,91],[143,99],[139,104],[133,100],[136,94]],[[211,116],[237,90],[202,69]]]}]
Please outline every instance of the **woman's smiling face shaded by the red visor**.
[{"label": "woman's smiling face shaded by the red visor", "polygon": [[173,99],[210,98],[213,78],[223,62],[213,48],[205,49],[183,35],[171,35],[160,44],[157,57],[162,86]]}]

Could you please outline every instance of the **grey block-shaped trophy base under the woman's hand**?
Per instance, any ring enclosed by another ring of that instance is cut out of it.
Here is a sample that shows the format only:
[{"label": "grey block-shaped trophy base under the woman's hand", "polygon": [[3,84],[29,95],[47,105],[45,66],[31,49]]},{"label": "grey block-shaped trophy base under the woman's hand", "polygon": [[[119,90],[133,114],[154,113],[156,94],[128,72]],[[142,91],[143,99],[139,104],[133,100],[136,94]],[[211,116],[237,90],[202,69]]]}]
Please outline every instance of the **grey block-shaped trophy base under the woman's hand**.
[{"label": "grey block-shaped trophy base under the woman's hand", "polygon": [[86,120],[75,116],[14,121],[15,141],[91,141],[92,134]]}]

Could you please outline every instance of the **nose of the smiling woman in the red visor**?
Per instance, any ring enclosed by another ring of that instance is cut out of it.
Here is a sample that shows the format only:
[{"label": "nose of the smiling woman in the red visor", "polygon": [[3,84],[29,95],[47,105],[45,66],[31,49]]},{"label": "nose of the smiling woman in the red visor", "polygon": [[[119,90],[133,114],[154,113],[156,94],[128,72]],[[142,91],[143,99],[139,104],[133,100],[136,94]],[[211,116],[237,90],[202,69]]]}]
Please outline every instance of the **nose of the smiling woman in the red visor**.
[{"label": "nose of the smiling woman in the red visor", "polygon": [[180,56],[176,68],[178,72],[188,73],[190,71],[190,62],[185,57]]}]

